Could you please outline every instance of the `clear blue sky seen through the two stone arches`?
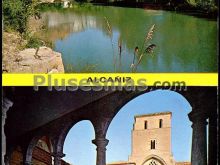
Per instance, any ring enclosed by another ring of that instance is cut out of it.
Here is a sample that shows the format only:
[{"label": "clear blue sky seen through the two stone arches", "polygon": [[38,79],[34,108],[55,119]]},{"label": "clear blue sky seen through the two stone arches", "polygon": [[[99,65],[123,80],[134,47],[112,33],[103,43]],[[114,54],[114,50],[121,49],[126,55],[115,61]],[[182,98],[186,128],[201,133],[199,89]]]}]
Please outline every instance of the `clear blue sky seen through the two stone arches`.
[{"label": "clear blue sky seen through the two stone arches", "polygon": [[[176,92],[157,90],[131,100],[113,119],[107,133],[107,163],[128,160],[135,115],[163,111],[172,112],[174,159],[190,161],[192,129],[187,114],[191,111],[191,106]],[[64,160],[74,165],[95,165],[96,146],[91,143],[94,137],[94,129],[89,121],[77,123],[65,140]]]}]

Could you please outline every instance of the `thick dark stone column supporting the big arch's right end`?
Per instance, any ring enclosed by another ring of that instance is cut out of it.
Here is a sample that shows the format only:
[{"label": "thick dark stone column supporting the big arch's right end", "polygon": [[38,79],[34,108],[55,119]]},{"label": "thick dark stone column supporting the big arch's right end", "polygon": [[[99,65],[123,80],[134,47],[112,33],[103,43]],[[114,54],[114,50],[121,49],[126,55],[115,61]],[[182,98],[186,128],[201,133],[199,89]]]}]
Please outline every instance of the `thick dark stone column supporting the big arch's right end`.
[{"label": "thick dark stone column supporting the big arch's right end", "polygon": [[207,165],[206,118],[198,114],[191,115],[190,120],[193,122],[191,163]]}]

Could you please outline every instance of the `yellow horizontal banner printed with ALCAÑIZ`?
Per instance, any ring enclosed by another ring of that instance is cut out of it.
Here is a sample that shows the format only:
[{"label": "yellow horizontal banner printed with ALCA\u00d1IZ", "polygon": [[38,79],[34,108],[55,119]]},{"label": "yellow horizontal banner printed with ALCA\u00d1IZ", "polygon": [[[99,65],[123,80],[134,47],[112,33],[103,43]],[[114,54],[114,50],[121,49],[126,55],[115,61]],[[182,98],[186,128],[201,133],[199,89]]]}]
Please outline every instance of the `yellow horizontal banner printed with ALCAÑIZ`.
[{"label": "yellow horizontal banner printed with ALCA\u00d1IZ", "polygon": [[2,86],[218,86],[217,73],[2,74]]}]

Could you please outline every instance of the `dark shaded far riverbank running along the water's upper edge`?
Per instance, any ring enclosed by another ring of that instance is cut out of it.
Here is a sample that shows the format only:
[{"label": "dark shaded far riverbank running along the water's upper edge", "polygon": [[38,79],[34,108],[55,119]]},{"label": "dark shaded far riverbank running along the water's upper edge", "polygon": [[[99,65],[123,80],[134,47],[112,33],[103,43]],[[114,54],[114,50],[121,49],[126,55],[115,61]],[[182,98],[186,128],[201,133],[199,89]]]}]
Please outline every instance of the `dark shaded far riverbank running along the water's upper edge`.
[{"label": "dark shaded far riverbank running along the water's upper edge", "polygon": [[[114,6],[114,7],[125,7],[125,8],[141,8],[145,10],[165,10],[165,11],[174,11],[177,13],[195,16],[199,18],[206,18],[206,19],[212,19],[217,20],[218,17],[218,7],[212,6],[204,8],[199,8],[196,5],[189,4],[185,1],[182,1],[181,3],[177,2],[169,2],[169,3],[146,3],[146,2],[132,2],[132,1],[115,1],[115,2],[83,2],[83,3],[77,3],[74,2],[71,4],[71,8],[78,8],[78,7],[84,7],[90,9],[92,6]],[[63,8],[61,3],[44,3],[41,4],[41,10],[47,10],[47,8],[54,8],[59,9]]]}]

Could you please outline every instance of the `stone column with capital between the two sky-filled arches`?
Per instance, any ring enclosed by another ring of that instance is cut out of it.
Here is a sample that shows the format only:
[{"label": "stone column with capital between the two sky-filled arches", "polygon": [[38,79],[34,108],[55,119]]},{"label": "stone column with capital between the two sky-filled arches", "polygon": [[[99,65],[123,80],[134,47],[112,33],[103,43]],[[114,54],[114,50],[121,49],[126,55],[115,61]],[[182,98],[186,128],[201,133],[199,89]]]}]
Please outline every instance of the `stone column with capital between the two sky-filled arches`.
[{"label": "stone column with capital between the two sky-filled arches", "polygon": [[106,146],[108,142],[104,137],[92,140],[92,143],[97,146],[96,165],[106,165]]}]

